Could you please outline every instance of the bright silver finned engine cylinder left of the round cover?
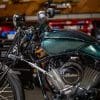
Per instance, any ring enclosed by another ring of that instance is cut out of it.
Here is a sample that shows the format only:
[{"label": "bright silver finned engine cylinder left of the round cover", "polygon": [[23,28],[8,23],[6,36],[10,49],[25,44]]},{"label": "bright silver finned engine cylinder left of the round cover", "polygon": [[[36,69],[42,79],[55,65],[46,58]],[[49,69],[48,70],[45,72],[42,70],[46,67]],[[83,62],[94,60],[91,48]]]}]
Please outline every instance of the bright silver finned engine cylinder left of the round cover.
[{"label": "bright silver finned engine cylinder left of the round cover", "polygon": [[47,80],[52,87],[55,87],[57,91],[69,94],[72,91],[72,85],[64,83],[57,69],[52,69],[49,74],[52,74],[53,78],[48,77]]}]

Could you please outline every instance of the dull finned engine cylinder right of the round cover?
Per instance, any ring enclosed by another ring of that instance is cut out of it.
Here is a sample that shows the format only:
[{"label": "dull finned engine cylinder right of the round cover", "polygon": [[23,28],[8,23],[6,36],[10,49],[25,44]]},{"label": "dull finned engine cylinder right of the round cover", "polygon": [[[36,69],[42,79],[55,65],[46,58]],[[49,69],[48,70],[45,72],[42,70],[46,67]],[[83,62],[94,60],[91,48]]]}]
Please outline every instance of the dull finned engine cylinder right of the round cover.
[{"label": "dull finned engine cylinder right of the round cover", "polygon": [[92,69],[90,67],[86,67],[84,70],[84,76],[82,81],[80,81],[80,87],[86,90],[94,87],[100,79],[100,72]]}]

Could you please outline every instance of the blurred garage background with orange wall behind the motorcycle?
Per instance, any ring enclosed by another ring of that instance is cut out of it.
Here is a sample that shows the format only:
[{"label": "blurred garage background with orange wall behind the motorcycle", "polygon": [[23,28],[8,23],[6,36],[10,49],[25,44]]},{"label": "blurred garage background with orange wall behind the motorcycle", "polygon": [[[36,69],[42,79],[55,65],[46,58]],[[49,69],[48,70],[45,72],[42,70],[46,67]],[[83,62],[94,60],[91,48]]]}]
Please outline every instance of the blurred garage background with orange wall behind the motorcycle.
[{"label": "blurred garage background with orange wall behind the motorcycle", "polygon": [[[100,0],[0,0],[1,61],[11,46],[16,33],[12,21],[13,15],[22,15],[25,17],[27,26],[34,26],[37,22],[37,12],[46,10],[48,7],[54,8],[56,13],[54,17],[48,18],[50,28],[78,30],[100,40]],[[24,82],[27,81],[30,84],[30,71],[23,77],[26,78]],[[26,91],[27,100],[31,100],[33,97],[42,100],[39,88],[35,92],[33,87],[30,88],[32,91],[30,89]],[[40,94],[38,98],[37,94]]]}]

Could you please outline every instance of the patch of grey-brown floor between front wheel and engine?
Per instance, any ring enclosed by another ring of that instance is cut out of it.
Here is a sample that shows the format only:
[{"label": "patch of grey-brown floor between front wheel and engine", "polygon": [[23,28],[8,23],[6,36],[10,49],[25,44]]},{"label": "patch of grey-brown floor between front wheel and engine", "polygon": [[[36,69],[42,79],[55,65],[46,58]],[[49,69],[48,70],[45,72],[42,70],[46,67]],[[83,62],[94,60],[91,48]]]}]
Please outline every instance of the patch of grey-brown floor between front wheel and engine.
[{"label": "patch of grey-brown floor between front wheel and engine", "polygon": [[26,100],[44,100],[42,92],[39,88],[34,90],[25,90]]}]

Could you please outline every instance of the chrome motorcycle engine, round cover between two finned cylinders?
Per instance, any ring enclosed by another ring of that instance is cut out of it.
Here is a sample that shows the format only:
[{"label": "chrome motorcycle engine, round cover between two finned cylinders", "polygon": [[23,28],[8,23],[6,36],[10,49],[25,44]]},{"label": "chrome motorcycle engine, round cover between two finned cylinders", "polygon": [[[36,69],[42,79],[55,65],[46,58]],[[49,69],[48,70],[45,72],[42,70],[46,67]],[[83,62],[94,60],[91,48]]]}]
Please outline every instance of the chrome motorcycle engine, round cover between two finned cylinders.
[{"label": "chrome motorcycle engine, round cover between two finned cylinders", "polygon": [[60,68],[51,69],[49,73],[53,76],[53,79],[47,78],[49,84],[65,95],[75,92],[76,89],[88,91],[100,78],[100,72],[90,67],[83,69],[75,62],[67,62]]}]

